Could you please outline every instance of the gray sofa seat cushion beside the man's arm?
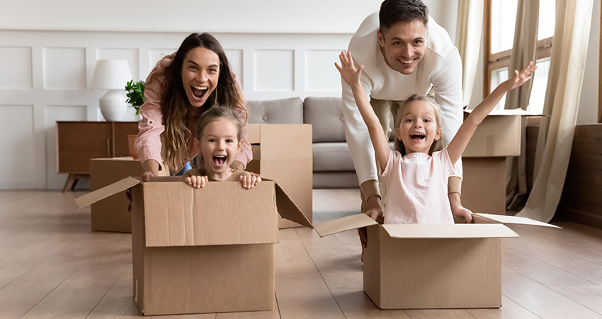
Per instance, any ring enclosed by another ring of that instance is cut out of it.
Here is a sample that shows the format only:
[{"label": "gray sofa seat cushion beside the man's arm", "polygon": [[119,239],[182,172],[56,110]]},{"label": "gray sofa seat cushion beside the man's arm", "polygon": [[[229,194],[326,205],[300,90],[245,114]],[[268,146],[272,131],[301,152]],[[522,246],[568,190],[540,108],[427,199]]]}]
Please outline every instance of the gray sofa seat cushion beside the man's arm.
[{"label": "gray sofa seat cushion beside the man's arm", "polygon": [[314,172],[355,172],[346,142],[313,143]]}]

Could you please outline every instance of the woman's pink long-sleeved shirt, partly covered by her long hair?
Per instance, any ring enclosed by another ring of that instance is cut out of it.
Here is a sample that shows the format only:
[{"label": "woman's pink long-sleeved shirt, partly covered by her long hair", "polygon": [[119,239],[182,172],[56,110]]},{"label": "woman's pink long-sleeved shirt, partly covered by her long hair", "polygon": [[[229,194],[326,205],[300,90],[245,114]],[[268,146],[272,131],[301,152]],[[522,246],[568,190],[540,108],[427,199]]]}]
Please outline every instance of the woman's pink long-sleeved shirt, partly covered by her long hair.
[{"label": "woman's pink long-sleeved shirt, partly covered by her long hair", "polygon": [[[144,103],[140,106],[140,114],[142,115],[142,121],[138,124],[138,138],[134,144],[134,148],[140,156],[140,162],[144,164],[148,159],[154,159],[162,165],[161,159],[161,133],[165,130],[163,124],[163,113],[161,113],[161,96],[165,94],[165,87],[162,86],[165,81],[165,76],[161,75],[165,68],[171,64],[173,56],[168,55],[159,62],[147,77],[146,85],[144,86]],[[161,74],[159,74],[161,73]],[[238,81],[236,74],[232,73],[234,81],[237,83],[240,89],[240,82]],[[242,91],[242,89],[241,89]],[[247,135],[247,123],[246,123],[246,111],[244,106],[235,106],[234,112],[237,113],[241,121],[245,123],[242,128],[242,147],[235,160],[242,162],[246,166],[249,164],[253,155],[251,152],[251,144],[246,139]],[[195,132],[196,123],[191,123],[188,129],[191,132]],[[193,159],[200,150],[195,146],[193,138],[188,140],[188,145],[184,152],[184,162],[181,163],[181,167],[176,168],[175,172],[178,172],[186,162]]]}]

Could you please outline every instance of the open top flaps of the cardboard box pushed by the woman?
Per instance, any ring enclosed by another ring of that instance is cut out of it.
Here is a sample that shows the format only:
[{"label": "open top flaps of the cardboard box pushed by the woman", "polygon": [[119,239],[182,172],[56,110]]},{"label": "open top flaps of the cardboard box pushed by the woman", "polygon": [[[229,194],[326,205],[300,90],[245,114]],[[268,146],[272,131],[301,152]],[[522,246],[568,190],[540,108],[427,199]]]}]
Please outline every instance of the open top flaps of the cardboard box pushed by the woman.
[{"label": "open top flaps of the cardboard box pushed by the woman", "polygon": [[277,211],[283,218],[313,228],[270,179],[249,190],[237,181],[209,182],[203,189],[195,189],[181,177],[154,177],[144,183],[127,177],[75,201],[83,208],[138,184],[144,192],[141,204],[147,247],[278,242]]}]

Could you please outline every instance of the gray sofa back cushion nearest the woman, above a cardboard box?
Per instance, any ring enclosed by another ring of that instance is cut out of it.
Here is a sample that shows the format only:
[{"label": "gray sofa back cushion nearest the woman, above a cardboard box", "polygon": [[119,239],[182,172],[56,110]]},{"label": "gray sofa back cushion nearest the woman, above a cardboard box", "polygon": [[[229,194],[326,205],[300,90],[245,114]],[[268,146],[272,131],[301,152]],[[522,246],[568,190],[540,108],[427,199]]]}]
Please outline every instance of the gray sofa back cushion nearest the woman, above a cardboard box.
[{"label": "gray sofa back cushion nearest the woman, above a cardboard box", "polygon": [[249,123],[302,124],[303,101],[298,98],[268,101],[246,101]]}]

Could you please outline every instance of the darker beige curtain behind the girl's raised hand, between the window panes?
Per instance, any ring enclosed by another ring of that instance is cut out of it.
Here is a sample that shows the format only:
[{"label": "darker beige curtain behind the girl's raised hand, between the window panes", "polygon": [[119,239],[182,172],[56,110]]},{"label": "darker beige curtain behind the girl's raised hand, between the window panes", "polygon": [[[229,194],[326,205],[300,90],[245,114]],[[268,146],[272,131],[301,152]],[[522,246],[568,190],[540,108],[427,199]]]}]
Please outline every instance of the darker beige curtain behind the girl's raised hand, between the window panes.
[{"label": "darker beige curtain behind the girl's raised hand, between the window panes", "polygon": [[[537,58],[538,47],[538,21],[539,0],[518,0],[516,10],[516,23],[514,25],[514,43],[510,55],[508,76],[511,77],[515,69],[520,71],[529,61]],[[527,109],[533,80],[523,84],[518,89],[509,91],[506,96],[504,108]],[[506,160],[506,203],[509,209],[522,207],[527,194],[526,174],[526,118],[521,121],[521,155],[508,157]]]}]

